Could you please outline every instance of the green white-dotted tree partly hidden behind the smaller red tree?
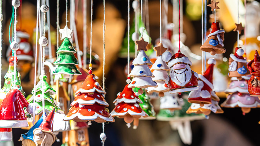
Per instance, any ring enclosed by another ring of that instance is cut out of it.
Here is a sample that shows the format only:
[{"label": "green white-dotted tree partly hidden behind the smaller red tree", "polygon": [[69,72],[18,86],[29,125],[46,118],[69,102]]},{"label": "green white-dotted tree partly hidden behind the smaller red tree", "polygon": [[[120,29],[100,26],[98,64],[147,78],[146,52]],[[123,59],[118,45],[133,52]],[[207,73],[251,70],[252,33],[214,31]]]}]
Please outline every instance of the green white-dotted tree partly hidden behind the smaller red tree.
[{"label": "green white-dotted tree partly hidden behind the smaller red tree", "polygon": [[[138,92],[140,88],[133,88],[134,92]],[[139,104],[140,107],[149,115],[146,118],[141,117],[140,119],[156,119],[156,113],[154,111],[154,106],[150,103],[150,97],[146,94],[143,89],[143,94],[139,95],[140,100],[143,101],[142,104]]]}]

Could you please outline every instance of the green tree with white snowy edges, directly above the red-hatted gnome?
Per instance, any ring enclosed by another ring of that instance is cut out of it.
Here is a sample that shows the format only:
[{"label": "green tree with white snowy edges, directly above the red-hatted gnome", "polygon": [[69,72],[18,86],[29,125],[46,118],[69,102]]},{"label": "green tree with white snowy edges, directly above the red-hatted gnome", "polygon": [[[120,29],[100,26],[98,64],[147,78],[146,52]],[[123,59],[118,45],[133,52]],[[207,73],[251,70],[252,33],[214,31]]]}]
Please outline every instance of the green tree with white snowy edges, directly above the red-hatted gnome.
[{"label": "green tree with white snowy edges, directly above the red-hatted gnome", "polygon": [[[43,103],[42,103],[42,82],[43,82],[43,90],[44,90],[44,108],[46,112],[52,111],[53,108],[55,108],[55,111],[58,113],[63,114],[64,111],[62,111],[58,106],[57,106],[57,101],[54,100],[52,95],[56,94],[55,90],[50,87],[48,82],[46,81],[47,76],[43,75],[43,80],[42,80],[42,75],[40,75],[40,81],[38,84],[35,86],[35,96],[34,96],[34,89],[32,89],[32,97],[29,98],[28,102],[33,103],[33,99],[35,98],[35,114],[39,115],[43,111]],[[25,115],[27,115],[27,111],[24,110]]]}]

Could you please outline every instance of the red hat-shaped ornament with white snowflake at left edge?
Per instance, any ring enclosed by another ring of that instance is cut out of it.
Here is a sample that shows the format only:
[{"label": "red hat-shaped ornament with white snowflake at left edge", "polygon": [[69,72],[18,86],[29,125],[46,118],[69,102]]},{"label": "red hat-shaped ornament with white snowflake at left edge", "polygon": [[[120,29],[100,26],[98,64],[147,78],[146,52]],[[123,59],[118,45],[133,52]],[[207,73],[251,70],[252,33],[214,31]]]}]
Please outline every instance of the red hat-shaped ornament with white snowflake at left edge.
[{"label": "red hat-shaped ornament with white snowflake at left edge", "polygon": [[18,89],[11,89],[7,92],[0,106],[0,128],[21,128],[28,127],[24,114],[24,107],[28,113],[32,113],[28,101]]}]

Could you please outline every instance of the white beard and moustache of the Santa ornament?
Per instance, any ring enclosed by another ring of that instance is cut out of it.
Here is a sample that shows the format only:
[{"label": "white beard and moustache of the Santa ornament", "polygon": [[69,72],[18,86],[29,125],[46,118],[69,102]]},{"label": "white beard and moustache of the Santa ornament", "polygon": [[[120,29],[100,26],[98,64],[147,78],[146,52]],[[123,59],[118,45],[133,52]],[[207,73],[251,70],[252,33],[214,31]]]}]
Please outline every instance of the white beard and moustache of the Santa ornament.
[{"label": "white beard and moustache of the Santa ornament", "polygon": [[171,80],[179,86],[185,86],[191,80],[191,68],[186,64],[186,68],[175,70],[171,68]]}]

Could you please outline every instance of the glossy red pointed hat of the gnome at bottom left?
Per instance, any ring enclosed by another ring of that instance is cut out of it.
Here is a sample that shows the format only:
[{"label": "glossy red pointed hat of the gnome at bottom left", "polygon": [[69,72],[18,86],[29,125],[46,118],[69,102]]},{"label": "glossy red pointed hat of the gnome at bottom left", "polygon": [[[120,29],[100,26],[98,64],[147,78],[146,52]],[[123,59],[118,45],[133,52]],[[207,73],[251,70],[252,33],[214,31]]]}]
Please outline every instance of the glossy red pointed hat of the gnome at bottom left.
[{"label": "glossy red pointed hat of the gnome at bottom left", "polygon": [[53,137],[53,142],[56,140],[56,137],[53,133],[53,118],[54,118],[54,114],[55,114],[55,108],[52,109],[52,111],[45,117],[45,119],[43,120],[43,122],[41,123],[41,125],[39,126],[39,128],[35,128],[35,130],[33,130],[33,133],[36,130],[42,130],[43,132],[46,133],[50,133]]}]

